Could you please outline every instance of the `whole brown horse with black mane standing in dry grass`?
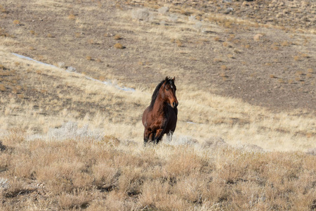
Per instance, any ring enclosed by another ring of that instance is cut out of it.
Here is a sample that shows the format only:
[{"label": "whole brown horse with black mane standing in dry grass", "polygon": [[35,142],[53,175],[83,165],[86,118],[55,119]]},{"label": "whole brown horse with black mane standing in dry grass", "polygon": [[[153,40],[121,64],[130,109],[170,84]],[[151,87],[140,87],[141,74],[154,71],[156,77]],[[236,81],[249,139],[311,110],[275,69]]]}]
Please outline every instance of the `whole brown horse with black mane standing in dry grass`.
[{"label": "whole brown horse with black mane standing in dry grass", "polygon": [[157,85],[152,94],[152,102],[143,113],[145,144],[147,141],[158,143],[164,134],[171,136],[170,139],[172,138],[178,115],[174,80],[174,77],[173,79],[166,77]]}]

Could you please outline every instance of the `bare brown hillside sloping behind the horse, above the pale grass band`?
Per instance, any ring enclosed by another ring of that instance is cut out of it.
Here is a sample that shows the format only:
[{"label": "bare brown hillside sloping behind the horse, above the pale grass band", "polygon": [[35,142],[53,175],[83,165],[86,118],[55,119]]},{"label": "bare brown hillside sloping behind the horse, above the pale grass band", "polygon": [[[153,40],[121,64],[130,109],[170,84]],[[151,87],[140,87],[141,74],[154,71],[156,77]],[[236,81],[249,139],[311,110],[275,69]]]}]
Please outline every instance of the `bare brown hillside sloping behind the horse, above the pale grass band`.
[{"label": "bare brown hillside sloping behind the horse, above the pale grass band", "polygon": [[[178,91],[315,113],[315,1],[199,2],[2,1],[0,39],[12,53],[133,88],[171,75]],[[133,17],[139,7],[150,20]]]}]

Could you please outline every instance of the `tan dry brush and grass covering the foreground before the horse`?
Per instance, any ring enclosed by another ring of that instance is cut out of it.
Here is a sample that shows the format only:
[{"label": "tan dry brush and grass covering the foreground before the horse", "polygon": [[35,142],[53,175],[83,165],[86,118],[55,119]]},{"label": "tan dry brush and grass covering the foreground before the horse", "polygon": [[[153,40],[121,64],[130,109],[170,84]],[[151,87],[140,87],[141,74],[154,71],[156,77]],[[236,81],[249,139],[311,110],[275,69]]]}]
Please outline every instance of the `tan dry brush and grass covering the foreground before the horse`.
[{"label": "tan dry brush and grass covering the foreground before the horse", "polygon": [[27,139],[19,130],[6,134],[3,145],[10,147],[1,152],[2,207],[308,210],[315,203],[315,155],[211,140],[143,148],[86,138],[48,141]]}]

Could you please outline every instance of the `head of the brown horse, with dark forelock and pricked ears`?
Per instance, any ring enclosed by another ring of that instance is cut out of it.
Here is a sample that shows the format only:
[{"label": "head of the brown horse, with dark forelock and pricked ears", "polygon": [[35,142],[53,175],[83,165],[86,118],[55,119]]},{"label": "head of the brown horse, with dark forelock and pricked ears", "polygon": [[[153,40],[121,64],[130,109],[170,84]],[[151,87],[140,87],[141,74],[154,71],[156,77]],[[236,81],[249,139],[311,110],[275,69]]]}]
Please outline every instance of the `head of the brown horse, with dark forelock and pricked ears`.
[{"label": "head of the brown horse, with dark forelock and pricked ears", "polygon": [[166,77],[164,84],[160,88],[163,101],[168,103],[172,108],[176,108],[178,106],[178,100],[176,97],[177,87],[174,84],[174,81],[175,77],[173,77],[173,79]]}]

